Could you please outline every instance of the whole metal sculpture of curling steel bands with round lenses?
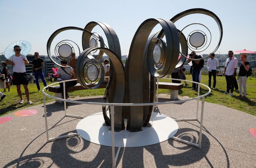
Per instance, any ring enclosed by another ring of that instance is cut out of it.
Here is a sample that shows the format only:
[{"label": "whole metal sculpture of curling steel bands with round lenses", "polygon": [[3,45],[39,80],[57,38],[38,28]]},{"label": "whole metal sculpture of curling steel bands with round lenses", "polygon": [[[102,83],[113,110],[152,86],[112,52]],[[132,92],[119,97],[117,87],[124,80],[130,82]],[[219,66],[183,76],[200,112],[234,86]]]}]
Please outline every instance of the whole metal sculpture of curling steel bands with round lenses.
[{"label": "whole metal sculpture of curling steel bands with round lenses", "polygon": [[[156,95],[156,79],[167,77],[171,75],[174,68],[180,67],[187,59],[188,49],[196,52],[204,51],[211,43],[211,33],[209,39],[204,31],[198,29],[193,30],[187,36],[183,33],[184,29],[191,25],[201,25],[209,31],[203,24],[192,23],[181,30],[176,28],[174,23],[190,14],[208,15],[216,21],[220,36],[212,53],[216,52],[223,36],[221,22],[213,12],[197,8],[183,11],[171,20],[147,19],[142,22],[132,39],[125,67],[121,62],[121,49],[115,31],[106,23],[101,22],[89,22],[85,28],[63,27],[55,31],[47,42],[47,53],[49,58],[59,65],[51,56],[53,39],[62,31],[83,31],[83,52],[78,51],[79,57],[75,74],[78,82],[88,89],[96,89],[101,85],[105,73],[99,59],[105,53],[110,58],[111,70],[110,80],[103,98],[104,102],[153,103]],[[158,24],[161,25],[162,30],[150,35],[153,28]],[[103,37],[99,33],[92,32],[95,26],[101,27],[108,45],[104,43]],[[55,52],[58,59],[70,59],[70,52],[74,52],[74,47],[70,42],[73,41],[61,41],[56,45]],[[96,51],[98,54],[94,54]],[[182,57],[178,61],[179,54]],[[205,58],[208,56],[202,59]],[[94,86],[89,88],[88,84],[94,84]],[[109,112],[111,113],[110,109]],[[127,118],[127,130],[131,132],[141,131],[142,127],[149,125],[152,112],[153,106],[117,106],[114,113],[114,130],[124,130],[124,119]],[[106,125],[110,125],[111,117],[108,117],[105,106],[103,106],[103,116]]]}]

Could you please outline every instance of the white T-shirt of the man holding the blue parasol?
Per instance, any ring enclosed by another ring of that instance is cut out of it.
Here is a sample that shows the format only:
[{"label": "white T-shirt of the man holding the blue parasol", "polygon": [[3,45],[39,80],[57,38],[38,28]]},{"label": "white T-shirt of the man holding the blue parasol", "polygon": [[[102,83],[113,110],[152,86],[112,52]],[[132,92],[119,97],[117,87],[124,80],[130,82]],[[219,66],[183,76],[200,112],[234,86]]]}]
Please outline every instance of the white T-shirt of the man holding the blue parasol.
[{"label": "white T-shirt of the man holding the blue parasol", "polygon": [[25,62],[23,61],[23,58],[27,59],[27,57],[24,55],[20,55],[19,57],[12,55],[10,59],[8,59],[9,61],[15,63],[15,65],[13,66],[13,72],[26,72]]}]

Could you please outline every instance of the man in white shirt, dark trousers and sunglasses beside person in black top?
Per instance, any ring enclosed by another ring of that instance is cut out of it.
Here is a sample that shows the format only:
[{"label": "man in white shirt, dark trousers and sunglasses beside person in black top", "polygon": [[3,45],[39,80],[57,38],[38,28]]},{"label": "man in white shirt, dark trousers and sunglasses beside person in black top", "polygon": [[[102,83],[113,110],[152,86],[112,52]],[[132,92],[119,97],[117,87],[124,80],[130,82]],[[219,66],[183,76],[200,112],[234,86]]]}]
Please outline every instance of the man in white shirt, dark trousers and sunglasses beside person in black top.
[{"label": "man in white shirt, dark trousers and sunglasses beside person in black top", "polygon": [[[229,51],[229,58],[226,59],[223,76],[225,75],[227,90],[223,94],[229,94],[233,96],[234,91],[234,78],[236,77],[237,59],[233,57],[233,51]],[[229,93],[230,91],[230,93]]]}]

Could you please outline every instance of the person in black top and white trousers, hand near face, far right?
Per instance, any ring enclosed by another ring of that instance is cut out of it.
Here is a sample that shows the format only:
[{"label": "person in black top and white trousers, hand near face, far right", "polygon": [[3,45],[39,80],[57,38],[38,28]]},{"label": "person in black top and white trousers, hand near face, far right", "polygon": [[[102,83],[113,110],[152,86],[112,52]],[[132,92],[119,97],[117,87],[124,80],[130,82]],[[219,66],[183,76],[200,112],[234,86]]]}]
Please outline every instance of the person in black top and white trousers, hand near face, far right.
[{"label": "person in black top and white trousers, hand near face, far right", "polygon": [[[239,97],[246,97],[246,82],[248,79],[247,72],[250,68],[250,64],[246,61],[246,55],[241,55],[241,63],[239,65],[238,81],[239,81]],[[244,95],[242,96],[242,88],[244,88]]]}]

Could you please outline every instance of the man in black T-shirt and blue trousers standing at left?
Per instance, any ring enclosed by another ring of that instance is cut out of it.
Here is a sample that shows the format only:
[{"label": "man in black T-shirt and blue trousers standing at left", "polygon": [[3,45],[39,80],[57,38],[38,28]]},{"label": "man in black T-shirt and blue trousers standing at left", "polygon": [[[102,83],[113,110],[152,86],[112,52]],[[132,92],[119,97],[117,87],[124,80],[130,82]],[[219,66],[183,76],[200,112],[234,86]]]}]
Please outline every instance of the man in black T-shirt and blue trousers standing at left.
[{"label": "man in black T-shirt and blue trousers standing at left", "polygon": [[32,74],[35,75],[36,86],[37,86],[38,91],[40,91],[38,77],[40,77],[42,79],[43,85],[47,86],[46,81],[45,81],[45,76],[43,75],[43,66],[44,66],[43,59],[39,58],[38,52],[35,52],[35,59],[33,59],[33,61],[32,61]]}]

